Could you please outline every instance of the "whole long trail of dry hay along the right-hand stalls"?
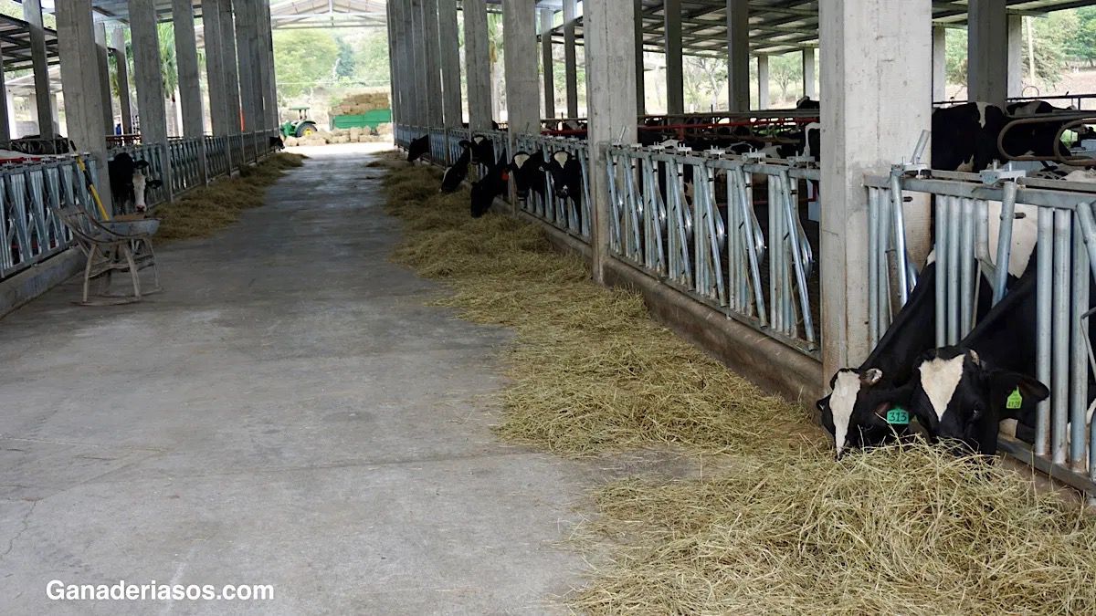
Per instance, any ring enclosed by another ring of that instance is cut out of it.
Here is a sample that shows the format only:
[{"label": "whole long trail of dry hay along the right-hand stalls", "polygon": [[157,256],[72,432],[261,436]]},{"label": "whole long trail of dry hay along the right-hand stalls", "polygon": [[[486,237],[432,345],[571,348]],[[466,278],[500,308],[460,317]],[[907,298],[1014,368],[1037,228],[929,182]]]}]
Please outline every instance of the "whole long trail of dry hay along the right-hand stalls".
[{"label": "whole long trail of dry hay along the right-hand stalls", "polygon": [[580,544],[608,563],[571,597],[594,614],[1096,611],[1096,522],[1013,474],[917,446],[834,463],[806,415],[591,283],[534,226],[468,216],[436,170],[386,162],[395,259],[442,304],[514,328],[499,433],[562,454],[673,444],[715,478],[595,493]]}]

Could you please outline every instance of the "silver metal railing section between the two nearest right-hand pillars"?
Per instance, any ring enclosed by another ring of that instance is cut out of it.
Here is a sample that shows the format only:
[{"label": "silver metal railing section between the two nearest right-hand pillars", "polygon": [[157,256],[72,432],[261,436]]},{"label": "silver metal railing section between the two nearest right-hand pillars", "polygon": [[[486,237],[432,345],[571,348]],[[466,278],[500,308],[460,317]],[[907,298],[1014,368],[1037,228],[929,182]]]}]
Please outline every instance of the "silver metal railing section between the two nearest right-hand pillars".
[{"label": "silver metal railing section between the two nearest right-hand pillars", "polygon": [[799,207],[800,184],[818,181],[818,169],[806,160],[621,145],[607,147],[606,161],[600,172],[608,175],[617,259],[819,356],[813,251]]}]

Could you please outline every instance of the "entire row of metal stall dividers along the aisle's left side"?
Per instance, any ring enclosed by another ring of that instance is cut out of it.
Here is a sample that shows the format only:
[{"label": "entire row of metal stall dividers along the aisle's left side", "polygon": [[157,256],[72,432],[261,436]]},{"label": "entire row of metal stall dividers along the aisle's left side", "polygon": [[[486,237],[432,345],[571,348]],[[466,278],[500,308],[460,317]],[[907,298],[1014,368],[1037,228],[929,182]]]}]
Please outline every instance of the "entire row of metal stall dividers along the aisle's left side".
[{"label": "entire row of metal stall dividers along the aisle's left side", "polygon": [[[113,159],[126,152],[134,160],[148,161],[146,175],[163,183],[147,192],[146,202],[153,207],[216,178],[238,172],[249,162],[262,160],[275,151],[271,138],[277,135],[277,130],[256,130],[230,136],[173,138],[168,144],[121,145],[115,141],[109,156]],[[46,146],[48,144],[43,147]],[[249,160],[244,158],[246,150]],[[0,238],[4,242],[4,250],[0,251],[0,280],[43,263],[72,246],[68,230],[53,215],[54,207],[77,205],[99,216],[75,156],[36,156],[45,158],[0,167],[0,202],[3,204]],[[98,169],[93,157],[84,153],[83,160],[96,186],[107,182],[107,171]],[[165,164],[169,160],[170,166]]]}]

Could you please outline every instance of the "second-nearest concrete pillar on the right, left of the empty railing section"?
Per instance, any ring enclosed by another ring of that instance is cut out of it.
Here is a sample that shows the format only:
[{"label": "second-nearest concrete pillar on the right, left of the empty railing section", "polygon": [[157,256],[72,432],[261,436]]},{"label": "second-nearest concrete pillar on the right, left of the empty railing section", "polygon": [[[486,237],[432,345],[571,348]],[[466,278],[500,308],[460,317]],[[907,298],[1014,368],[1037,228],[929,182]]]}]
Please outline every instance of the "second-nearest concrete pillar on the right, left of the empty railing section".
[{"label": "second-nearest concrete pillar on the right, left of the empty railing section", "polygon": [[[583,5],[586,44],[586,94],[590,142],[636,141],[636,45],[620,36],[635,23],[635,4],[615,0],[586,0]],[[591,169],[605,168],[600,147],[590,148]],[[594,280],[605,282],[609,256],[609,191],[605,173],[593,178],[591,248]]]}]

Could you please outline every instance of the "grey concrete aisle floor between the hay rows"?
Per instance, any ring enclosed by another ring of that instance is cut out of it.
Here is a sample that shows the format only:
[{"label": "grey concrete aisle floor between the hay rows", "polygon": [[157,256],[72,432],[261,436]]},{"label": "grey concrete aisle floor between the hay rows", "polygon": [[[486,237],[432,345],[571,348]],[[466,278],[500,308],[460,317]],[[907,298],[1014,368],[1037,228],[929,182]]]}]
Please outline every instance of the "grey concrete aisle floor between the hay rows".
[{"label": "grey concrete aisle floor between the hay rows", "polygon": [[[541,614],[605,469],[500,443],[507,332],[386,261],[363,148],[160,251],[165,293],[0,321],[0,614]],[[612,471],[610,471],[612,474]],[[269,602],[50,602],[50,580],[273,584]]]}]

